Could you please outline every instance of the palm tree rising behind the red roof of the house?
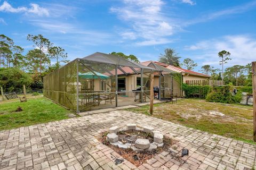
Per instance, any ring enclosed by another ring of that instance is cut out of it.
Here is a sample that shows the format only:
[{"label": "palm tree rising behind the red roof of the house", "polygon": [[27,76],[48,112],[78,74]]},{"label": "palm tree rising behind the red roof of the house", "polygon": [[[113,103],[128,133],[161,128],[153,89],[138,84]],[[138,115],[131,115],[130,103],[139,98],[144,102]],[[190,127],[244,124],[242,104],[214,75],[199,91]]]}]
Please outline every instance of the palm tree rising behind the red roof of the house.
[{"label": "palm tree rising behind the red roof of the house", "polygon": [[174,65],[174,66],[180,66],[180,60],[178,53],[175,52],[172,48],[166,48],[164,50],[164,54],[160,54],[159,56],[159,62]]}]

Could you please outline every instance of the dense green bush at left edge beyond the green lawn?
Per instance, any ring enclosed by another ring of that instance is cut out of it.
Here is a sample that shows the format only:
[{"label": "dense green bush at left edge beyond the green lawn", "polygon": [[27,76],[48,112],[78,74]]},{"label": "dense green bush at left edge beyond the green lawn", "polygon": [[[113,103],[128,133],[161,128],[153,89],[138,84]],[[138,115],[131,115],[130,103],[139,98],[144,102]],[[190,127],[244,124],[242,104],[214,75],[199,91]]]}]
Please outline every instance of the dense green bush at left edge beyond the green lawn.
[{"label": "dense green bush at left edge beyond the green lawn", "polygon": [[0,86],[5,92],[21,91],[23,84],[28,87],[31,77],[17,68],[0,68]]}]

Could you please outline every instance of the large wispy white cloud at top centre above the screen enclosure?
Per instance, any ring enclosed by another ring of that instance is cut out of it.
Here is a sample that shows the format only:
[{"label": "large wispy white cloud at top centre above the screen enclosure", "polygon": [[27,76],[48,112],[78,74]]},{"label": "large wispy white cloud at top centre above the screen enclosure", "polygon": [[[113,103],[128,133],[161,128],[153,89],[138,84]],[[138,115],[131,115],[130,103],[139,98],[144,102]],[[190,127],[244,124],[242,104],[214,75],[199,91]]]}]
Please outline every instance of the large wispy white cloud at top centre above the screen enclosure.
[{"label": "large wispy white cloud at top centre above the screen enclosure", "polygon": [[124,39],[142,39],[135,45],[169,43],[170,40],[167,38],[179,28],[165,16],[166,13],[162,10],[165,3],[161,0],[123,0],[123,3],[124,6],[111,7],[110,11],[129,24],[129,31],[119,32]]}]

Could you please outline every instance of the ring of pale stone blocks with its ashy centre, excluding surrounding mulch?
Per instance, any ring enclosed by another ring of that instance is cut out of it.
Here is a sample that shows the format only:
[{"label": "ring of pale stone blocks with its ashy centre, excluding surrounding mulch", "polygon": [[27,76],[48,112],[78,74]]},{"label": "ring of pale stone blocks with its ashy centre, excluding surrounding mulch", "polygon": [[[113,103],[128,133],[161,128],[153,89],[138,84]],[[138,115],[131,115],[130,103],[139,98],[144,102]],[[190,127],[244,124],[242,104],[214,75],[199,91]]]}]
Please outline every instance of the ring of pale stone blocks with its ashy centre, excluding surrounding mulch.
[{"label": "ring of pale stone blocks with its ashy centre, excluding surrounding mulch", "polygon": [[125,128],[113,126],[107,134],[110,145],[133,151],[151,151],[163,147],[164,136],[150,126],[138,128],[136,124],[127,124]]}]

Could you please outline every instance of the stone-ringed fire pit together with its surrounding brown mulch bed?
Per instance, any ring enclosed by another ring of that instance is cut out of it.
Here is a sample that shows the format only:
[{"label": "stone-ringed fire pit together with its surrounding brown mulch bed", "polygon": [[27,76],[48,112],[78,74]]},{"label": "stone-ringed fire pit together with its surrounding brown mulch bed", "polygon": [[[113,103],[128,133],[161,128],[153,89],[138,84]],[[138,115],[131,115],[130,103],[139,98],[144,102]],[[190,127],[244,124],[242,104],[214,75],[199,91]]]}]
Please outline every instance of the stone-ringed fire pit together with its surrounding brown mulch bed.
[{"label": "stone-ringed fire pit together with its surrounding brown mulch bed", "polygon": [[156,154],[161,154],[163,151],[170,152],[171,146],[177,143],[176,140],[163,136],[153,127],[141,127],[136,124],[113,126],[107,133],[101,133],[97,138],[103,145],[110,147],[137,167]]}]

